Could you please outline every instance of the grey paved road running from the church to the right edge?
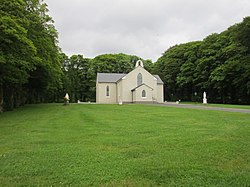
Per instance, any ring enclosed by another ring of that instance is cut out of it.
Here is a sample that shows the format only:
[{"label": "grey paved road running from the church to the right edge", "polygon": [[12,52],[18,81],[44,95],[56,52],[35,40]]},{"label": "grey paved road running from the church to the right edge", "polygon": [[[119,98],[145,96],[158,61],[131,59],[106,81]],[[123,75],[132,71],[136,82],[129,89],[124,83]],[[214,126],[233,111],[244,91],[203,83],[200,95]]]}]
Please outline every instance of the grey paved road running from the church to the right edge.
[{"label": "grey paved road running from the church to the right edge", "polygon": [[161,106],[171,106],[171,107],[178,107],[178,108],[195,108],[195,109],[202,109],[202,110],[219,110],[219,111],[226,111],[226,112],[240,112],[240,113],[250,113],[249,109],[237,109],[237,108],[221,108],[221,107],[210,107],[210,106],[200,106],[200,105],[192,105],[192,104],[177,104],[174,102],[167,102],[162,104],[157,104]]}]

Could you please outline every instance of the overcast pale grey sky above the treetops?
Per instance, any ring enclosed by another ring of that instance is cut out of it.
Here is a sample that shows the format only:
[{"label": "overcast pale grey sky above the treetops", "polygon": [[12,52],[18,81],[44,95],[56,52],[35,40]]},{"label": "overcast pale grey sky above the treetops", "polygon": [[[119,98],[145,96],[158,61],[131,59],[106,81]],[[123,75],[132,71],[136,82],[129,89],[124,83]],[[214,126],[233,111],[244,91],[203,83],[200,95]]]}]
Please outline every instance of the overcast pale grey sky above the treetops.
[{"label": "overcast pale grey sky above the treetops", "polygon": [[44,0],[68,56],[126,53],[154,61],[250,15],[249,0]]}]

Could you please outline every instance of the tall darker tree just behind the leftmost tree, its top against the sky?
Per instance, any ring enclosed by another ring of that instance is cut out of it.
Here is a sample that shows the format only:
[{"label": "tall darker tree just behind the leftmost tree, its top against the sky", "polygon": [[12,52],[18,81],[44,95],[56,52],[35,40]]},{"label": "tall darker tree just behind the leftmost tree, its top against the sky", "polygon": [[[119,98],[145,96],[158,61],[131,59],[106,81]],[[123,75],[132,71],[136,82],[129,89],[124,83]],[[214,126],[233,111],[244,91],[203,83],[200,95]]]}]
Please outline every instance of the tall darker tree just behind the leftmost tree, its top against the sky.
[{"label": "tall darker tree just behind the leftmost tree, its top against the sky", "polygon": [[58,33],[53,20],[47,15],[46,4],[38,0],[27,1],[30,24],[28,36],[37,49],[38,63],[31,72],[27,88],[32,93],[29,102],[44,102],[57,99],[57,92],[62,87],[62,71],[57,46]]}]

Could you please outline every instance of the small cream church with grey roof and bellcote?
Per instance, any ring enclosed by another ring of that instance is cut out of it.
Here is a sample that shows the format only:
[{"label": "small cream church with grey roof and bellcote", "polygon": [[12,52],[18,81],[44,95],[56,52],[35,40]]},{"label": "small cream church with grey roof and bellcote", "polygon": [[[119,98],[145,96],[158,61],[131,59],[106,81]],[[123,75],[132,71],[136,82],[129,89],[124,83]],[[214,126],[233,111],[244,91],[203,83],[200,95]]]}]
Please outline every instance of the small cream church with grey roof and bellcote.
[{"label": "small cream church with grey roof and bellcote", "polygon": [[96,103],[162,103],[163,84],[138,60],[128,74],[97,73]]}]

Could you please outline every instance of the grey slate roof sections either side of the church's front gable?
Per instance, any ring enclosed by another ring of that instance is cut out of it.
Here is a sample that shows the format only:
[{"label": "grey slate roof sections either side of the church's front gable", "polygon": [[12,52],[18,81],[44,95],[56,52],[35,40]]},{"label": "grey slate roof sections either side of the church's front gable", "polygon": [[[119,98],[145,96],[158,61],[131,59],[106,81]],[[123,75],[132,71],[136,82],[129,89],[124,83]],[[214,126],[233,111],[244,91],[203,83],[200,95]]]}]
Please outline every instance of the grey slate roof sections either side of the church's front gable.
[{"label": "grey slate roof sections either side of the church's front gable", "polygon": [[[126,74],[123,73],[97,73],[97,82],[116,83]],[[164,84],[158,75],[153,75],[157,79],[157,84]]]}]

